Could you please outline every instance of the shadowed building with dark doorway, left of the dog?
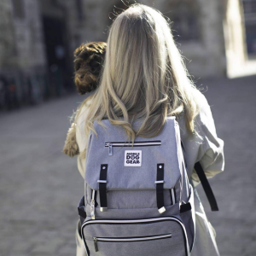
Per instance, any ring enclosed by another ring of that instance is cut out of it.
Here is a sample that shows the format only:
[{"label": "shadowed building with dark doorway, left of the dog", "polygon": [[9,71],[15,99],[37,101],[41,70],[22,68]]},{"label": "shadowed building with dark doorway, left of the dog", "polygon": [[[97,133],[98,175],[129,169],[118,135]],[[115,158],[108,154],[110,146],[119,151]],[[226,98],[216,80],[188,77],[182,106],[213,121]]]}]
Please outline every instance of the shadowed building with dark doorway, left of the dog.
[{"label": "shadowed building with dark doorway, left of the dog", "polygon": [[0,108],[74,90],[79,12],[78,1],[0,1]]}]

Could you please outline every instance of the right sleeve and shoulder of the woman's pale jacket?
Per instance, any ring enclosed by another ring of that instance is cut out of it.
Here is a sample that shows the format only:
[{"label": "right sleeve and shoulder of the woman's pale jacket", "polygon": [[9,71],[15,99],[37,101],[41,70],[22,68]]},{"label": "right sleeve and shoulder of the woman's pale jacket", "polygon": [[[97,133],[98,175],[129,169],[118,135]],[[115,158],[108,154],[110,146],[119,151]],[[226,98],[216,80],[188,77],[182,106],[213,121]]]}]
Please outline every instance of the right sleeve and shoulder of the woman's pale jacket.
[{"label": "right sleeve and shoulder of the woman's pale jacket", "polygon": [[[180,135],[186,149],[189,174],[192,173],[195,162],[200,161],[207,177],[213,177],[224,170],[224,142],[216,133],[212,110],[206,96],[201,91],[195,91],[195,94],[198,112],[194,119],[194,135],[191,136],[186,128],[184,113],[178,119]],[[195,173],[192,178],[196,182],[199,180]]]}]

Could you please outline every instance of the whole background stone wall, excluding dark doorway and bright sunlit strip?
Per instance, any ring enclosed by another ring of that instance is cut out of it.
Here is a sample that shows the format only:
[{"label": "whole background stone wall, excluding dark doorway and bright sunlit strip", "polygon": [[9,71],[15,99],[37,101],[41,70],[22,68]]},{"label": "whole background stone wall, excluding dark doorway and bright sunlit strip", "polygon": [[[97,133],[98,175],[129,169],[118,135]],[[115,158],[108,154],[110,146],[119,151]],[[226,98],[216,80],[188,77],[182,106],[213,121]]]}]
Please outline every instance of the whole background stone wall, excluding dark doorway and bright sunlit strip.
[{"label": "whole background stone wall, excluding dark doorway and bright sunlit strip", "polygon": [[[140,3],[160,9],[171,19],[177,46],[195,78],[227,73],[228,44],[224,44],[223,31],[225,16],[229,14],[225,9],[227,0],[141,0]],[[49,53],[42,19],[53,17],[64,24],[65,61],[73,70],[74,49],[82,42],[106,41],[111,19],[121,9],[125,9],[121,0],[2,0],[0,69],[47,69]],[[244,47],[243,39],[239,44]]]}]

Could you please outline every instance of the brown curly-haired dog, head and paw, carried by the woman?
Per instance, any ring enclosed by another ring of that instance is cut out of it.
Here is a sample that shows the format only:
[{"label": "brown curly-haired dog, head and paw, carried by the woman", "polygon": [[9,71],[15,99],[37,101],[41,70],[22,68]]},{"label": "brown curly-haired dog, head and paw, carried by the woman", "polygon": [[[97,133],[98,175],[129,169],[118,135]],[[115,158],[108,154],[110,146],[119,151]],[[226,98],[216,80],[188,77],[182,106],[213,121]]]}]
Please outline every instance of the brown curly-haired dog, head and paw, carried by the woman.
[{"label": "brown curly-haired dog, head and paw, carried by the woman", "polygon": [[[106,49],[107,44],[104,42],[91,42],[81,44],[74,51],[74,83],[79,90],[79,94],[83,95],[92,90],[96,90]],[[63,153],[71,157],[79,154],[75,125],[76,124],[73,123],[67,131],[67,138],[63,148]]]}]

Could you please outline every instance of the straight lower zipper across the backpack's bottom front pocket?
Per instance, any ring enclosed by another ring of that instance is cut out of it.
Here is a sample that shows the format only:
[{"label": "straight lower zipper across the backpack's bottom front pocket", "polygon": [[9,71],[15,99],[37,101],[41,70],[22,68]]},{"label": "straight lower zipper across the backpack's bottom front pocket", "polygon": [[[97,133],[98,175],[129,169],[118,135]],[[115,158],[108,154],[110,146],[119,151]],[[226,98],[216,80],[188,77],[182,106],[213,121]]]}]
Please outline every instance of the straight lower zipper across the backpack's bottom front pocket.
[{"label": "straight lower zipper across the backpack's bottom front pocket", "polygon": [[172,237],[172,233],[170,234],[165,234],[165,235],[157,235],[157,236],[138,236],[138,237],[93,237],[94,241],[94,247],[95,251],[98,252],[99,247],[97,241],[148,241],[148,240],[156,240],[156,239],[164,239],[164,238],[169,238]]}]

